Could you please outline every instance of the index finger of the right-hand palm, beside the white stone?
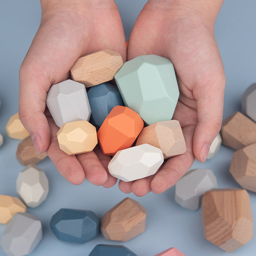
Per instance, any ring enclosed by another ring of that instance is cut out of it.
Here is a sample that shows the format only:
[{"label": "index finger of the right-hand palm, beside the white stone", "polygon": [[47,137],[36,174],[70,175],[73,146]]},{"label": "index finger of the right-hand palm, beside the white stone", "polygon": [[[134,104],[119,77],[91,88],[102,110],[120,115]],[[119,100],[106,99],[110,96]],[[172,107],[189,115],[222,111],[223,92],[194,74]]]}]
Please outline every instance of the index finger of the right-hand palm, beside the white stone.
[{"label": "index finger of the right-hand palm, beside the white stone", "polygon": [[193,155],[193,134],[195,127],[190,125],[182,128],[187,151],[178,156],[174,156],[166,161],[162,169],[151,181],[151,189],[159,194],[174,186],[176,182],[187,172],[194,162]]}]

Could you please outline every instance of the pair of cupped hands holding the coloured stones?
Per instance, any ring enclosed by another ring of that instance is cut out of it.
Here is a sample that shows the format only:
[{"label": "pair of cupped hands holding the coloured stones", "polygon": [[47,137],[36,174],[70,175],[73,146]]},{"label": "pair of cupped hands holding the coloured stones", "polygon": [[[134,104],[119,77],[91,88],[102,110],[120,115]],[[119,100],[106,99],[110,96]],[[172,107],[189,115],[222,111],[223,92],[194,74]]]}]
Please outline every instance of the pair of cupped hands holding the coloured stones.
[{"label": "pair of cupped hands holding the coloured stones", "polygon": [[[195,3],[200,1],[205,2]],[[116,184],[107,168],[111,157],[103,155],[98,146],[90,153],[73,156],[60,150],[59,128],[46,109],[50,86],[68,79],[79,57],[111,49],[119,52],[124,62],[146,54],[171,59],[180,89],[173,119],[180,121],[187,146],[185,154],[167,160],[155,175],[119,181],[120,190],[137,196],[162,193],[175,185],[195,157],[204,162],[223,113],[225,75],[214,37],[214,22],[222,5],[222,0],[218,1],[209,1],[213,8],[208,14],[208,6],[149,0],[135,22],[126,50],[113,0],[41,0],[41,25],[20,68],[19,98],[21,122],[38,153],[47,151],[59,173],[73,184],[80,184],[85,177],[103,187]]]}]

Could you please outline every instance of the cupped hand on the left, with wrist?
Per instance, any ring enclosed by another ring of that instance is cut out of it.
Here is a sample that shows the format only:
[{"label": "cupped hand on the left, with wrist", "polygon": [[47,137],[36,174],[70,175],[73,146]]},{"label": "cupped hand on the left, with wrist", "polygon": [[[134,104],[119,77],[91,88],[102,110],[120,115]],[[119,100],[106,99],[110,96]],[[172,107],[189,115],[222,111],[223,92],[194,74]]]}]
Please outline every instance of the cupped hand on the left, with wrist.
[{"label": "cupped hand on the left, with wrist", "polygon": [[113,0],[41,0],[42,19],[20,68],[19,116],[38,153],[47,151],[59,173],[73,184],[86,177],[111,187],[116,178],[107,170],[110,156],[94,151],[67,155],[60,150],[56,126],[46,110],[52,84],[69,78],[75,61],[86,54],[111,49],[126,61],[121,18]]}]

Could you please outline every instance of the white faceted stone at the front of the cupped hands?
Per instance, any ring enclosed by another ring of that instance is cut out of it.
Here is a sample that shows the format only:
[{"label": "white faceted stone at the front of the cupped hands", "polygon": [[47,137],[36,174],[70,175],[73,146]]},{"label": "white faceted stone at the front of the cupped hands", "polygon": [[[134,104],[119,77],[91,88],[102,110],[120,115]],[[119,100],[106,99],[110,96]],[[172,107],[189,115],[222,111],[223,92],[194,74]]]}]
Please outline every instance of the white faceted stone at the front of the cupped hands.
[{"label": "white faceted stone at the front of the cupped hands", "polygon": [[164,162],[162,151],[149,144],[120,150],[108,164],[113,177],[133,181],[156,173]]}]

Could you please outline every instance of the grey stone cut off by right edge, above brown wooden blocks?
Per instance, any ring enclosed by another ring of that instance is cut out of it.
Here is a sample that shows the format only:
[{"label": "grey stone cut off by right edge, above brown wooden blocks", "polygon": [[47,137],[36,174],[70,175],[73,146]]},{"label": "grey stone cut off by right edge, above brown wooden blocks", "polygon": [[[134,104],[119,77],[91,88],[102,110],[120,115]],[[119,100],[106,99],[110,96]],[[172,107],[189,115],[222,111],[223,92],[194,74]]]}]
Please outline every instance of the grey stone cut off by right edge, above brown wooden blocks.
[{"label": "grey stone cut off by right edge, above brown wooden blocks", "polygon": [[242,113],[256,122],[256,83],[250,85],[241,100]]}]

